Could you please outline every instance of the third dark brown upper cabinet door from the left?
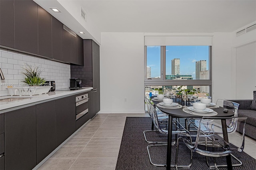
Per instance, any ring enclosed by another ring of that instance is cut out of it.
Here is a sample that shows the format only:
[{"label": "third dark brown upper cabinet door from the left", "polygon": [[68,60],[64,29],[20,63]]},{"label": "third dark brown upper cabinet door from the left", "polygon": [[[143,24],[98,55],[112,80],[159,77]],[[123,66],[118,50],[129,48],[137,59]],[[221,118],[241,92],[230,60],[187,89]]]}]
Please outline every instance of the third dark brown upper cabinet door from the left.
[{"label": "third dark brown upper cabinet door from the left", "polygon": [[38,6],[38,54],[52,58],[52,15]]}]

